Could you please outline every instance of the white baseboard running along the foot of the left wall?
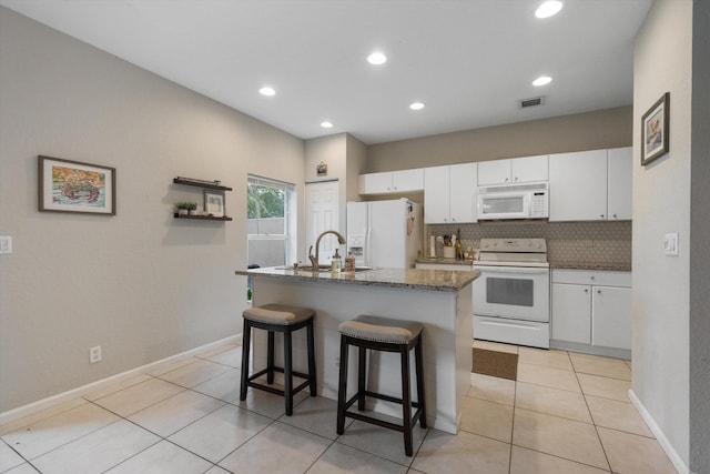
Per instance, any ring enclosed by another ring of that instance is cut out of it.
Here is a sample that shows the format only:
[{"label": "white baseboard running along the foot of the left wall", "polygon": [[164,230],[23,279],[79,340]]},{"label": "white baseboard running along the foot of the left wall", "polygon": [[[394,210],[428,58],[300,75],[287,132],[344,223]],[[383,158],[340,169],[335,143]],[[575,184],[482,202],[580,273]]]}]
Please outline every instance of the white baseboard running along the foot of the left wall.
[{"label": "white baseboard running along the foot of the left wall", "polygon": [[72,389],[70,391],[59,393],[57,395],[49,396],[47,399],[38,400],[37,402],[29,403],[23,406],[19,406],[17,409],[8,410],[7,412],[0,413],[0,426],[19,420],[21,417],[34,414],[37,412],[41,412],[42,410],[51,409],[54,405],[58,405],[63,402],[68,402],[72,399],[78,399],[88,393],[95,392],[111,384],[122,382],[126,379],[131,379],[135,375],[144,374],[148,372],[153,372],[155,369],[159,369],[163,365],[172,364],[175,361],[181,359],[191,357],[195,354],[210,350],[212,347],[216,347],[221,344],[225,343],[241,343],[242,334],[232,335],[230,337],[224,337],[219,341],[211,342],[205,345],[201,345],[200,347],[191,349],[190,351],[182,352],[180,354],[171,355],[170,357],[162,359],[160,361],[152,362],[146,365],[142,365],[140,367],[131,369],[130,371],[122,372],[120,374],[111,375],[106,379],[102,379],[95,382],[91,382],[87,385],[82,385],[77,389]]}]

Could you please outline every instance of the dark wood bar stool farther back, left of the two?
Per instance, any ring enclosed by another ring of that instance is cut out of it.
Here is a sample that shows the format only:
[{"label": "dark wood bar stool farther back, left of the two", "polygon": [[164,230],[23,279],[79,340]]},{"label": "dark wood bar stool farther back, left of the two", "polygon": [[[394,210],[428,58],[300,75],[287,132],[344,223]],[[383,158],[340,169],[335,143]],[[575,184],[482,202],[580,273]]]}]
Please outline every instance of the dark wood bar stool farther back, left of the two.
[{"label": "dark wood bar stool farther back, left of the two", "polygon": [[[308,307],[287,306],[283,304],[264,304],[263,306],[250,307],[244,311],[244,333],[242,341],[242,385],[240,391],[240,400],[246,400],[247,387],[263,390],[265,392],[283,395],[286,404],[286,415],[293,414],[293,395],[301,390],[310,386],[311,396],[316,395],[316,377],[315,377],[315,337],[314,337],[314,320],[315,312]],[[268,331],[267,350],[266,350],[266,369],[261,370],[252,375],[248,374],[248,355],[252,327]],[[293,370],[292,360],[292,333],[302,327],[307,329],[308,345],[308,373],[296,372]],[[278,367],[274,364],[274,333],[283,333],[284,335],[284,366]],[[284,390],[270,386],[274,383],[274,372],[284,374]],[[266,383],[264,385],[254,382],[255,379],[266,374]],[[293,386],[293,377],[305,379],[305,382],[298,386]]]}]

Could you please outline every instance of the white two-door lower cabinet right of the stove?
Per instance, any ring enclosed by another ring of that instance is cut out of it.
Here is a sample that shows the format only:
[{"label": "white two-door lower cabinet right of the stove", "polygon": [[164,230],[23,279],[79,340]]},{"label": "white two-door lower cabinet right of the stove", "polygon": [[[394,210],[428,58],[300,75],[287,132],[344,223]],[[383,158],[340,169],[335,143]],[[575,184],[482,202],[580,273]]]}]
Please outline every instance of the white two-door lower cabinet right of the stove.
[{"label": "white two-door lower cabinet right of the stove", "polygon": [[552,340],[631,350],[631,273],[552,270]]}]

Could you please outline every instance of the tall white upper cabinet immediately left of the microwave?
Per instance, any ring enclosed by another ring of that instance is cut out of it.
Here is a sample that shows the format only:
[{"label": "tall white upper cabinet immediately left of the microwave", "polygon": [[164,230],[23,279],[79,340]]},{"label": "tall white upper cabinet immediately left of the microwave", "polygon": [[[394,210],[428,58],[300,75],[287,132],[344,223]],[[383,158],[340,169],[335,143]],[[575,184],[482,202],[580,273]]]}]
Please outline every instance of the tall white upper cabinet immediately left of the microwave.
[{"label": "tall white upper cabinet immediately left of the microwave", "polygon": [[450,224],[476,222],[476,163],[426,168],[424,171],[424,222]]}]

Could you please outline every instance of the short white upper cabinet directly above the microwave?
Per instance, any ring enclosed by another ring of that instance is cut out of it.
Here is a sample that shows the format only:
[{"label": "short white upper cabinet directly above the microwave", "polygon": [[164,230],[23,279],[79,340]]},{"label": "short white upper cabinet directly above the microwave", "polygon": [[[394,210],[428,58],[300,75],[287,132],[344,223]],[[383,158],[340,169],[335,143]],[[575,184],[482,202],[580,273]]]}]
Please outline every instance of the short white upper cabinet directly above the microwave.
[{"label": "short white upper cabinet directly above the microwave", "polygon": [[548,155],[481,161],[478,185],[531,183],[548,180]]}]

